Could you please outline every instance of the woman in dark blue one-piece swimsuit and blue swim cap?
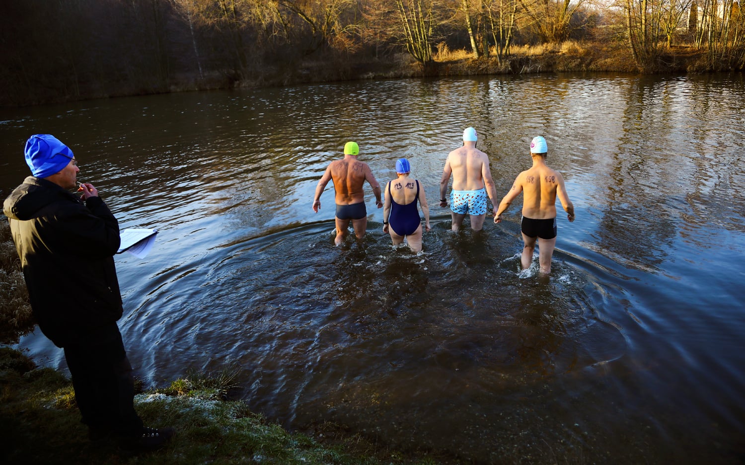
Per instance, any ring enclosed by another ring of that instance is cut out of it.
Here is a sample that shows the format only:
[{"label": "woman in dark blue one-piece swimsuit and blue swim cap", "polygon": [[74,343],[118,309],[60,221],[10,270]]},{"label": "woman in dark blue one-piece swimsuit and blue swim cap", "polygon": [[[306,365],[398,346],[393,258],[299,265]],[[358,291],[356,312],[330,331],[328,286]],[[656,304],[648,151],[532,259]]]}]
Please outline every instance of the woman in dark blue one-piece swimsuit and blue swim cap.
[{"label": "woman in dark blue one-piece swimsuit and blue swim cap", "polygon": [[385,186],[385,203],[383,206],[383,232],[389,233],[393,245],[406,242],[414,252],[422,250],[422,219],[416,201],[424,213],[425,228],[429,231],[429,207],[424,186],[418,180],[409,177],[411,168],[408,159],[401,158],[396,162],[395,180]]}]

